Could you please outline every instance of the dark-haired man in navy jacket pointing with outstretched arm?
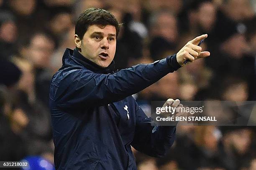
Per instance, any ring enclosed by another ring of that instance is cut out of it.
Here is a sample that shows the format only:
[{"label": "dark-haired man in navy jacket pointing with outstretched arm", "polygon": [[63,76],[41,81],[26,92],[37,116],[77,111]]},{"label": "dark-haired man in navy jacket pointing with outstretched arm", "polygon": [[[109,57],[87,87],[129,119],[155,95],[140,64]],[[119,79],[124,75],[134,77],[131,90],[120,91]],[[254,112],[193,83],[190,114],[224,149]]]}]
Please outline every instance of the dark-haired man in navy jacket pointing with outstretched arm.
[{"label": "dark-haired man in navy jacket pointing with outstretched arm", "polygon": [[[174,142],[176,127],[152,127],[131,95],[185,60],[209,56],[195,45],[207,35],[188,42],[177,55],[113,72],[118,30],[115,17],[102,9],[87,9],[77,20],[76,49],[65,51],[50,88],[57,170],[136,170],[131,146],[161,157]],[[166,105],[176,107],[179,100]]]}]

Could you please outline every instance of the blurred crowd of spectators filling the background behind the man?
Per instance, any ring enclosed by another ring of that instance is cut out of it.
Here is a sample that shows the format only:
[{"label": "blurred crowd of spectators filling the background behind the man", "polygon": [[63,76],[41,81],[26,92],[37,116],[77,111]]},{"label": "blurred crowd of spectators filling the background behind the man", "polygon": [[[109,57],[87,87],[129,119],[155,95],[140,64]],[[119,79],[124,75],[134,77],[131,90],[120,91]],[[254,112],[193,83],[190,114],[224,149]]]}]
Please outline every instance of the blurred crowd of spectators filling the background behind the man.
[{"label": "blurred crowd of spectators filling the background behind the man", "polygon": [[[256,100],[255,0],[0,0],[0,161],[35,155],[53,164],[49,84],[89,7],[123,23],[117,69],[162,59],[208,34],[201,47],[210,57],[134,95],[146,113],[151,101],[168,98]],[[138,170],[256,170],[255,133],[253,126],[178,126],[164,158],[133,151]]]}]

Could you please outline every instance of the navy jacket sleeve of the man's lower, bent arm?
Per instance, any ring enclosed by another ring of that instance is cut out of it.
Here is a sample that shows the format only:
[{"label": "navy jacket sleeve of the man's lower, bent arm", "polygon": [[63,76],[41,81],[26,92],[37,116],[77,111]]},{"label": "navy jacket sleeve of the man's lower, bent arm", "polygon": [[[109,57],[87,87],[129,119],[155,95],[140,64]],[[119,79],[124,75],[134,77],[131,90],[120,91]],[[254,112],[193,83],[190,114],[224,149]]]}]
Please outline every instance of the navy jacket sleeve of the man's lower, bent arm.
[{"label": "navy jacket sleeve of the man's lower, bent arm", "polygon": [[153,157],[166,155],[175,140],[176,126],[152,126],[136,102],[136,128],[131,145],[136,150]]}]

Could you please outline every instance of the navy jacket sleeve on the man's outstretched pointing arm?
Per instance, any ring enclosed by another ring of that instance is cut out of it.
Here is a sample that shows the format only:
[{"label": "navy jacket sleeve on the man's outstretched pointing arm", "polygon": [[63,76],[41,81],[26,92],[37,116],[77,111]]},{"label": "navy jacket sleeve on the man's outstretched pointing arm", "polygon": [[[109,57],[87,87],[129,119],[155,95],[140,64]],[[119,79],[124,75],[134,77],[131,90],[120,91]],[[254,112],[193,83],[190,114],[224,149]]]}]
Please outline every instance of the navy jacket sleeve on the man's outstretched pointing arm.
[{"label": "navy jacket sleeve on the man's outstretched pointing arm", "polygon": [[[50,99],[59,107],[99,106],[133,95],[179,68],[176,55],[113,74],[77,69],[53,77]],[[62,78],[60,79],[59,77]]]}]

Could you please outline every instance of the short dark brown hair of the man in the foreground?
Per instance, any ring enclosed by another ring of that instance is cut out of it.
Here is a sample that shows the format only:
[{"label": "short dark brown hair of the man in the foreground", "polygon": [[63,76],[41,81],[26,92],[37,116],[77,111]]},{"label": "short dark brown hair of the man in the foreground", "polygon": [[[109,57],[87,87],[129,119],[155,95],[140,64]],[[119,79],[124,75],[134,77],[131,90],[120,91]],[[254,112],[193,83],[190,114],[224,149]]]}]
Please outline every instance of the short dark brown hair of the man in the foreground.
[{"label": "short dark brown hair of the man in the foreground", "polygon": [[84,12],[77,19],[75,34],[78,35],[80,40],[83,39],[85,32],[90,25],[113,25],[115,26],[116,36],[119,32],[119,24],[115,16],[107,10],[100,8],[89,8],[84,10]]}]

